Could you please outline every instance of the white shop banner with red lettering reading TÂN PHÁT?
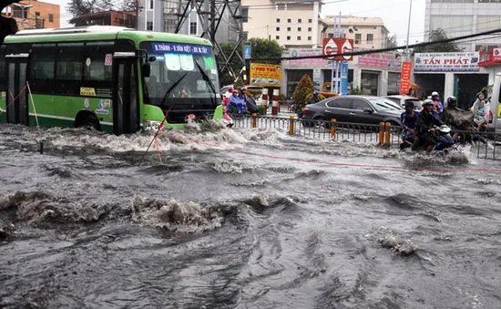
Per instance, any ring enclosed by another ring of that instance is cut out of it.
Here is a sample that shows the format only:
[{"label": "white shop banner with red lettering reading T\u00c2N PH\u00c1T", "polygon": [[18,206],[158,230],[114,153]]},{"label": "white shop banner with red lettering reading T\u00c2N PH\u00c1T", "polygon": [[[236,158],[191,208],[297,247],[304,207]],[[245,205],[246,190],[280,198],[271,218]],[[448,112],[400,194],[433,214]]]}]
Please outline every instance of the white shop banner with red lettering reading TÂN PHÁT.
[{"label": "white shop banner with red lettering reading T\u00c2N PH\u00c1T", "polygon": [[414,72],[478,71],[478,52],[423,53],[414,55]]}]

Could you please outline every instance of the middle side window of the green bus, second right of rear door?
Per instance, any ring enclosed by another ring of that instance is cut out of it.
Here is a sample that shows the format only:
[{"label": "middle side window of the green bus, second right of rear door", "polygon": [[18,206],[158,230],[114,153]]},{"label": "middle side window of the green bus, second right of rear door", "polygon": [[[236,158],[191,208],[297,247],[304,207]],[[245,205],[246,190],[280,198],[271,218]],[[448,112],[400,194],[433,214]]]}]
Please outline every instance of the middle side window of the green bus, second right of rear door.
[{"label": "middle side window of the green bus, second right of rear door", "polygon": [[80,95],[82,73],[85,65],[83,43],[63,43],[56,48],[56,92]]}]

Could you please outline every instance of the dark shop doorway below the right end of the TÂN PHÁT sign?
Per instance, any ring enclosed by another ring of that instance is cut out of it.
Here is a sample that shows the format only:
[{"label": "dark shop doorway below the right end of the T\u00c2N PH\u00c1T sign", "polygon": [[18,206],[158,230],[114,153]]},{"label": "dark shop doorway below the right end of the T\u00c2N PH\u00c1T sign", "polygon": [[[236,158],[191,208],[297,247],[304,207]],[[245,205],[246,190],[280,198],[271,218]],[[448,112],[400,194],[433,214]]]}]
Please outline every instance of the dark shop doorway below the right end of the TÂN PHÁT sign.
[{"label": "dark shop doorway below the right end of the T\u00c2N PH\u00c1T sign", "polygon": [[476,94],[486,87],[489,82],[488,74],[455,74],[454,95],[458,101],[458,108],[471,108]]}]

